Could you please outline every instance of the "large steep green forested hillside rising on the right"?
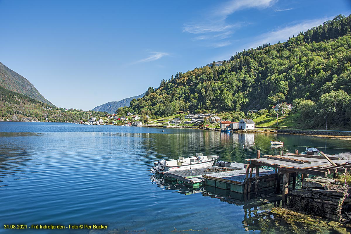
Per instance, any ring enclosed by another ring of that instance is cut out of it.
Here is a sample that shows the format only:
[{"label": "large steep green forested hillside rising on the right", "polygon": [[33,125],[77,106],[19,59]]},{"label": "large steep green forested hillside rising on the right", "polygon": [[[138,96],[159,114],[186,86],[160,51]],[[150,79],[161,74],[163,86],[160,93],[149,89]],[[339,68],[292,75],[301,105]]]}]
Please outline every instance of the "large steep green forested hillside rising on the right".
[{"label": "large steep green forested hillside rising on the right", "polygon": [[[329,121],[349,123],[345,113],[350,108],[347,103],[351,94],[350,28],[351,16],[338,15],[284,43],[237,53],[223,61],[222,66],[178,72],[171,79],[162,80],[159,88],[150,87],[143,98],[133,99],[128,109],[155,116],[168,116],[179,110],[247,112],[300,99],[318,104],[311,113],[319,113],[320,118],[332,113],[335,119]],[[347,103],[326,110],[326,103],[322,105],[321,101],[323,95],[324,99],[328,95],[343,95]],[[125,111],[126,108],[119,109]]]}]

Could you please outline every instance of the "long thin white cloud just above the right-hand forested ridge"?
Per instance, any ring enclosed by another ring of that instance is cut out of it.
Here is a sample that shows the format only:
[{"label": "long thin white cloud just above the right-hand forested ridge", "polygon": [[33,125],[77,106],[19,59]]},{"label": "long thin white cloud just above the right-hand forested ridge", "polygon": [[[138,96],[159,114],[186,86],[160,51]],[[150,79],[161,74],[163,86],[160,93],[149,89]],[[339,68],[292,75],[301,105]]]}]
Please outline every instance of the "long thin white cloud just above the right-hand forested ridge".
[{"label": "long thin white cloud just above the right-hand forested ridge", "polygon": [[291,38],[293,35],[297,35],[299,32],[307,31],[312,27],[316,27],[320,24],[323,24],[325,21],[333,19],[333,17],[329,18],[321,18],[321,19],[314,19],[314,20],[305,20],[299,22],[297,24],[293,24],[290,26],[286,26],[284,28],[277,29],[275,31],[263,33],[255,38],[253,38],[252,42],[246,44],[244,46],[247,49],[256,48],[257,46],[267,44],[276,44],[278,41],[286,41],[287,39]]}]

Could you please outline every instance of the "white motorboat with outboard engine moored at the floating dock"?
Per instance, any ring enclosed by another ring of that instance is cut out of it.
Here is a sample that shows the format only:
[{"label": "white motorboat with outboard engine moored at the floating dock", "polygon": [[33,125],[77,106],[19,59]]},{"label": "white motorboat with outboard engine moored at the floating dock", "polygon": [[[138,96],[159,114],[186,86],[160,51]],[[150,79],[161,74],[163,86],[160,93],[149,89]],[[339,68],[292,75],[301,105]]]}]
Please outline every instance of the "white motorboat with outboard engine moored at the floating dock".
[{"label": "white motorboat with outboard engine moored at the floating dock", "polygon": [[158,162],[153,162],[154,167],[151,168],[152,173],[160,171],[180,171],[187,169],[197,169],[202,167],[211,167],[216,159],[217,155],[204,156],[201,153],[197,153],[196,156],[190,156],[188,158],[179,157],[179,159],[161,159]]}]

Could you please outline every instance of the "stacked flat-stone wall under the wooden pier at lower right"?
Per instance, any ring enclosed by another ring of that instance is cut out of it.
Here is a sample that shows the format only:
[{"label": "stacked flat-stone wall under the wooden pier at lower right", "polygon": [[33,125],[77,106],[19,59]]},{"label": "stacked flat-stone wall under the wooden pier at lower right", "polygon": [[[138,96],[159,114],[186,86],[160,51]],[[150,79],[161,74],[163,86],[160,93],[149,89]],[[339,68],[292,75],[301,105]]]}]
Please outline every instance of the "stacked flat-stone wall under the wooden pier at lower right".
[{"label": "stacked flat-stone wall under the wooden pier at lower right", "polygon": [[302,189],[292,190],[289,205],[293,210],[307,212],[344,223],[351,222],[351,188],[322,177],[306,178]]}]

